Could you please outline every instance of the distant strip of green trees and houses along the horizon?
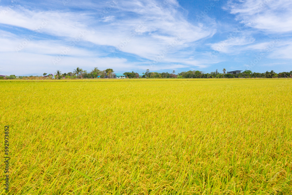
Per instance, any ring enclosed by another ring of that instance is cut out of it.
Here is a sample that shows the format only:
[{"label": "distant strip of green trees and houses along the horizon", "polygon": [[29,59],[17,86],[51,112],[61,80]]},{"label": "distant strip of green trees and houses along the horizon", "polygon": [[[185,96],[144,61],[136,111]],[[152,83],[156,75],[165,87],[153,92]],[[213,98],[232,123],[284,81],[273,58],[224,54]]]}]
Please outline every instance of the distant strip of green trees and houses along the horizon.
[{"label": "distant strip of green trees and houses along the horizon", "polygon": [[126,79],[126,78],[292,78],[292,71],[275,73],[273,70],[265,73],[256,73],[251,70],[234,70],[226,71],[224,68],[222,72],[218,69],[211,73],[205,73],[199,70],[189,70],[175,74],[175,70],[171,72],[151,72],[149,69],[145,73],[125,72],[115,73],[112,68],[106,70],[99,70],[95,67],[91,72],[82,70],[77,67],[73,72],[62,73],[57,70],[55,73],[43,73],[42,76],[15,76],[15,75],[0,75],[1,79]]}]

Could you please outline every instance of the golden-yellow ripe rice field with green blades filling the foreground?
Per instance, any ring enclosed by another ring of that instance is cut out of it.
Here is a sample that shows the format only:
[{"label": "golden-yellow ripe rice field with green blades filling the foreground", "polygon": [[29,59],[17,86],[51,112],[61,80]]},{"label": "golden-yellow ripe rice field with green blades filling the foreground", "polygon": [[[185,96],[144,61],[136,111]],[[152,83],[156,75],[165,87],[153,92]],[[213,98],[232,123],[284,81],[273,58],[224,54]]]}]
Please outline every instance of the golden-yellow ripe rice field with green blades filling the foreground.
[{"label": "golden-yellow ripe rice field with green blades filling the foreground", "polygon": [[7,194],[292,194],[292,79],[4,80],[0,89]]}]

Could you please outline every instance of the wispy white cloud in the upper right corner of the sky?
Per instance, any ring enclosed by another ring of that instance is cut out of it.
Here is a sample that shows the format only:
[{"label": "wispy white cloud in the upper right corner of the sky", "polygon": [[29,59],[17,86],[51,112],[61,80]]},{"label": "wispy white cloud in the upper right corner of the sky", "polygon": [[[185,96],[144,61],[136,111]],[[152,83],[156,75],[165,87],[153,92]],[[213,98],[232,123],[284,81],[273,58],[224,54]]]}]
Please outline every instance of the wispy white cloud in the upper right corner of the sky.
[{"label": "wispy white cloud in the upper right corner of the sky", "polygon": [[225,9],[249,27],[272,33],[292,31],[291,0],[229,1]]}]

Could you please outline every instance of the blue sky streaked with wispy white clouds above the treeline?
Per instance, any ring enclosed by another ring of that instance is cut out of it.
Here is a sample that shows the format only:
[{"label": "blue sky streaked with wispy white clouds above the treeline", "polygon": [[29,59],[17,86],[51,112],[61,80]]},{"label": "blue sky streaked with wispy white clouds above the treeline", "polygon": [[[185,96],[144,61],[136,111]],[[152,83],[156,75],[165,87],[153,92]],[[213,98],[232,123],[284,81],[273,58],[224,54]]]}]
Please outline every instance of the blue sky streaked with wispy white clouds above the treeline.
[{"label": "blue sky streaked with wispy white clouds above the treeline", "polygon": [[0,1],[0,75],[292,70],[291,0]]}]

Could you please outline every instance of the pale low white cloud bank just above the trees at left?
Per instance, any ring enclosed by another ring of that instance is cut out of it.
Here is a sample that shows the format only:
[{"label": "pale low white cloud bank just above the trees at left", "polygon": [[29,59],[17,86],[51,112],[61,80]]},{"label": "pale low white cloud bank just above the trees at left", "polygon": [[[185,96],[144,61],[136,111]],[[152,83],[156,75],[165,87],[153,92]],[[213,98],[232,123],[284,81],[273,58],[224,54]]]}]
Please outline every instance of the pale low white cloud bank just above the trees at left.
[{"label": "pale low white cloud bank just above the trees at left", "polygon": [[[72,72],[74,68],[81,67],[83,70],[90,71],[93,67],[98,67],[101,70],[106,68],[113,68],[114,70],[124,70],[137,68],[137,63],[128,62],[124,58],[101,58],[101,57],[72,57],[66,56],[62,60],[53,64],[52,56],[44,54],[32,54],[32,53],[0,53],[1,66],[0,74],[10,75],[26,75],[26,74],[41,74],[55,73],[56,70],[61,70],[62,73]],[[13,70],[13,71],[11,71]]]}]

